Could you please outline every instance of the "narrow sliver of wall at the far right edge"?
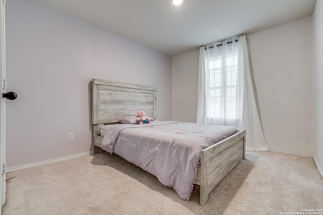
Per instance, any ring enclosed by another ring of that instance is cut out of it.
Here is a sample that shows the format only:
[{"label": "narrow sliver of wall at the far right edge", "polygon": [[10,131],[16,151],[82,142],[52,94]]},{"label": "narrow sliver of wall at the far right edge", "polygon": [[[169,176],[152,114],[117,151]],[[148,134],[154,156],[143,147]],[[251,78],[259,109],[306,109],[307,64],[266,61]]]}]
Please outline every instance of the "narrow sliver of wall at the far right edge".
[{"label": "narrow sliver of wall at the far right edge", "polygon": [[323,0],[317,0],[313,14],[314,47],[314,160],[323,177]]}]

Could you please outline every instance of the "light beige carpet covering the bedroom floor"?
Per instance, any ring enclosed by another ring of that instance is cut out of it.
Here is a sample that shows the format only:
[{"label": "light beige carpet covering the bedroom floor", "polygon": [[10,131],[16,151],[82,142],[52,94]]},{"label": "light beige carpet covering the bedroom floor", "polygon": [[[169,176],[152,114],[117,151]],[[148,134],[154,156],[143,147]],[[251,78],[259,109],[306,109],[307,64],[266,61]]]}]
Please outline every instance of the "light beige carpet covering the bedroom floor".
[{"label": "light beige carpet covering the bedroom floor", "polygon": [[323,208],[323,179],[314,161],[247,152],[199,205],[181,200],[149,173],[100,153],[7,174],[3,214],[293,214]]}]

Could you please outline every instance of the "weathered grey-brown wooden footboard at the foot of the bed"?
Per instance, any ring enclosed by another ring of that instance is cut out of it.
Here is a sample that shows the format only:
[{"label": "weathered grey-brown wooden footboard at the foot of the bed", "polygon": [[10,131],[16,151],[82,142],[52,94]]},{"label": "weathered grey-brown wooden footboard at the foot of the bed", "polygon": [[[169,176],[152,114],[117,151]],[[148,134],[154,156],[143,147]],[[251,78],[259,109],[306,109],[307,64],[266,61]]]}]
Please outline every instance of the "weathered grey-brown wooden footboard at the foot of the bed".
[{"label": "weathered grey-brown wooden footboard at the foot of the bed", "polygon": [[208,200],[208,194],[245,159],[246,131],[240,131],[201,151],[201,165],[196,184],[200,185],[200,205]]}]

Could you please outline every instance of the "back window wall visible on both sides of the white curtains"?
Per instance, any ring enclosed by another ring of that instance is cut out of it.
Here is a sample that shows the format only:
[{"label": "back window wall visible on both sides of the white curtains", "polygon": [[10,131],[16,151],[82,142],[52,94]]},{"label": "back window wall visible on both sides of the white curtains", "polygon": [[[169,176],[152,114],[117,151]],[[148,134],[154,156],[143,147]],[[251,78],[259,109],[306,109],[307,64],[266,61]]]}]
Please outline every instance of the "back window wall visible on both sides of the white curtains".
[{"label": "back window wall visible on both sides of the white curtains", "polygon": [[[310,16],[247,35],[269,148],[313,154],[311,32]],[[197,100],[192,91],[197,95],[198,52],[173,57],[174,120],[191,121],[196,118],[193,114],[196,114]],[[186,63],[191,66],[183,66]],[[187,78],[187,74],[191,75],[190,78]],[[179,83],[180,87],[177,86]],[[189,100],[190,103],[187,102]]]}]

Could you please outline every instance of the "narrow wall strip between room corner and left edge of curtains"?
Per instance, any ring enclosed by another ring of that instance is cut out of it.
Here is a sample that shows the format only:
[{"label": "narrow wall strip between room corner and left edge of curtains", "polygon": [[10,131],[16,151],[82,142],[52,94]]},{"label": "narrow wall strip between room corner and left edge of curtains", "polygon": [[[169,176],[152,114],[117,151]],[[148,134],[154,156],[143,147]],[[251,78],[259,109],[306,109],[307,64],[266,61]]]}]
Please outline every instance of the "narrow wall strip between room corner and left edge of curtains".
[{"label": "narrow wall strip between room corner and left edge of curtains", "polygon": [[196,122],[199,50],[173,57],[173,120]]}]

